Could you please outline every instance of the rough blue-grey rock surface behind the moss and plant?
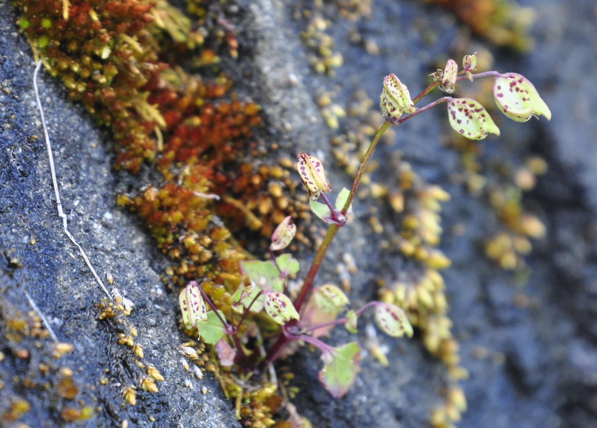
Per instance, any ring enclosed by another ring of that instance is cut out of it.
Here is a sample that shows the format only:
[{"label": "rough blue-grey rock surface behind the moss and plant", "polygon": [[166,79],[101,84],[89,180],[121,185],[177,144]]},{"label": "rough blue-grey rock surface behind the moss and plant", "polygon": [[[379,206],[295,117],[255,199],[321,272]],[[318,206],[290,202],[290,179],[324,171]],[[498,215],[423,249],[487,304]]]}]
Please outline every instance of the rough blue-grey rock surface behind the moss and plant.
[{"label": "rough blue-grey rock surface behind the moss and plant", "polygon": [[[597,108],[593,85],[597,56],[587,40],[597,36],[593,25],[597,12],[590,1],[525,3],[537,8],[536,49],[516,56],[486,47],[500,71],[520,72],[536,84],[553,120],[516,124],[499,118],[501,137],[484,140],[488,157],[520,163],[538,154],[549,163],[547,175],[524,199],[548,230],[527,257],[532,273],[524,288],[483,254],[482,240],[496,230],[497,220],[486,203],[451,180],[459,164],[454,151],[441,144],[443,110],[431,113],[436,120],[421,115],[421,120],[405,123],[396,131],[393,145],[380,146],[376,158],[381,165],[374,179],[383,181],[391,173],[383,160],[400,150],[418,174],[452,195],[442,212],[441,248],[453,259],[452,267],[444,271],[450,316],[463,365],[470,372],[462,383],[469,410],[458,426],[593,427],[597,426],[597,123],[590,114]],[[350,44],[347,32],[355,24],[338,19],[331,32],[344,65],[329,78],[309,69],[293,4],[258,0],[240,5],[239,41],[247,46],[241,70],[249,71],[250,77],[236,81],[241,93],[263,106],[263,137],[278,140],[290,152],[320,149],[330,163],[327,141],[332,133],[313,101],[317,91],[336,83],[343,87],[336,99],[340,103],[355,88],[363,88],[376,100],[381,77],[389,71],[399,71],[411,88],[423,87],[431,59],[448,51],[458,35],[456,20],[442,8],[375,0],[371,17],[356,25],[376,40],[380,55]],[[66,100],[59,82],[42,72],[42,102],[70,231],[100,276],[112,274],[118,289],[134,302],[128,319],[139,331],[136,340],[144,348],[143,359],[165,378],[156,384],[158,393],[140,390],[136,406],[121,405],[121,389],[136,372],[127,367],[129,357],[114,343],[118,332],[97,320],[93,306],[103,293],[61,228],[33,96],[31,52],[16,31],[14,11],[0,6],[0,314],[4,322],[15,311],[29,311],[23,293],[27,291],[59,340],[75,346],[61,359],[53,359],[50,338],[39,339],[41,347],[32,338],[16,345],[0,338],[0,351],[6,355],[0,362],[5,383],[0,411],[7,408],[9,397],[22,396],[32,405],[24,422],[60,426],[64,423],[60,412],[68,406],[81,408],[82,399],[85,405],[101,407],[84,422],[87,426],[119,426],[122,420],[133,426],[239,426],[233,404],[224,398],[217,380],[210,374],[199,380],[183,368],[179,346],[184,338],[177,328],[176,298],[159,278],[168,262],[154,250],[134,216],[116,207],[118,189],[140,187],[149,178],[113,172],[109,136],[97,129],[81,106]],[[433,43],[427,41],[429,32],[435,35]],[[329,174],[338,189],[350,182],[339,168],[330,167]],[[352,253],[359,268],[352,277],[355,301],[375,298],[376,279],[393,280],[409,268],[398,255],[379,250],[381,238],[367,219],[364,203],[355,206],[355,220],[338,234],[330,263],[320,274],[322,281],[336,282],[334,261],[344,252]],[[465,226],[464,233],[451,232],[457,225]],[[35,244],[30,244],[32,238]],[[308,260],[310,255],[303,256]],[[522,291],[528,304],[516,303]],[[338,331],[330,342],[355,338]],[[358,339],[366,340],[364,335]],[[300,393],[293,402],[314,427],[427,426],[430,408],[440,401],[444,366],[424,351],[417,335],[410,341],[381,335],[379,340],[389,347],[390,366],[382,368],[373,357],[366,357],[355,387],[340,400],[331,398],[317,381],[318,353],[303,349],[281,363],[297,375],[291,385],[300,387]],[[29,359],[14,355],[19,347],[29,348]],[[480,354],[480,347],[487,354]],[[73,370],[79,388],[76,402],[58,395],[56,388],[42,386],[54,382],[39,375],[35,365],[43,361],[50,361],[50,371],[64,366]],[[21,383],[11,381],[14,375],[30,377],[39,386],[17,387]],[[109,379],[106,385],[99,381],[104,375]],[[207,394],[201,393],[202,387]]]}]

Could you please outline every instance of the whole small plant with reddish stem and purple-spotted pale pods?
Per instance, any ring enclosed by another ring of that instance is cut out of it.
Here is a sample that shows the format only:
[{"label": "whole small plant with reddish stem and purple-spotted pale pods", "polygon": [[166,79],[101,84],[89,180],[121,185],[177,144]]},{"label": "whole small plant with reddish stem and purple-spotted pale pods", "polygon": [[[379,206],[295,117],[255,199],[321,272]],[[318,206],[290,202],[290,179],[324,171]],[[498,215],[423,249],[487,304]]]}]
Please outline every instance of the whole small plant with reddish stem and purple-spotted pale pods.
[{"label": "whole small plant with reddish stem and purple-spotted pale pods", "polygon": [[[476,78],[493,77],[496,103],[504,115],[519,122],[528,121],[533,115],[544,115],[548,120],[551,119],[551,112],[546,103],[525,77],[515,73],[500,74],[496,71],[475,74],[475,66],[475,55],[464,57],[464,69],[460,72],[457,63],[448,60],[444,70],[432,74],[433,83],[414,99],[411,99],[407,86],[395,74],[386,76],[380,96],[380,109],[386,122],[374,136],[356,173],[352,188],[341,189],[334,204],[326,195],[331,192],[332,187],[325,178],[321,160],[306,153],[297,155],[297,171],[306,191],[309,192],[310,208],[322,221],[330,224],[330,227],[294,301],[288,295],[287,282],[288,276],[298,273],[298,261],[288,253],[275,255],[276,251],[283,250],[290,244],[296,233],[296,226],[291,223],[290,216],[285,218],[272,234],[269,247],[271,260],[240,262],[245,281],[241,282],[232,296],[230,319],[226,319],[224,314],[217,310],[198,283],[192,281],[184,288],[180,294],[183,322],[187,328],[198,328],[205,343],[215,345],[221,365],[237,364],[242,371],[260,373],[265,366],[281,355],[289,343],[301,341],[321,350],[324,366],[319,371],[319,380],[334,397],[340,398],[350,389],[359,372],[361,348],[355,342],[332,347],[319,337],[337,325],[343,325],[349,332],[356,332],[358,317],[368,308],[375,310],[377,326],[387,335],[412,337],[413,327],[402,308],[372,301],[357,310],[349,309],[349,298],[340,288],[331,284],[315,287],[315,277],[336,233],[350,216],[356,189],[371,154],[381,135],[390,126],[398,126],[427,109],[447,103],[448,120],[456,132],[475,140],[484,139],[489,133],[500,134],[485,108],[474,99],[445,96],[417,109],[415,103],[433,88],[439,86],[445,93],[455,94],[455,85],[459,80],[474,81]],[[324,203],[319,203],[319,198]],[[206,303],[211,311],[207,310]],[[239,328],[247,320],[248,314],[259,313],[262,310],[281,326],[277,340],[265,354],[248,351],[239,337]],[[234,319],[234,313],[239,315],[237,320]],[[344,316],[338,317],[341,313],[344,313]]]}]

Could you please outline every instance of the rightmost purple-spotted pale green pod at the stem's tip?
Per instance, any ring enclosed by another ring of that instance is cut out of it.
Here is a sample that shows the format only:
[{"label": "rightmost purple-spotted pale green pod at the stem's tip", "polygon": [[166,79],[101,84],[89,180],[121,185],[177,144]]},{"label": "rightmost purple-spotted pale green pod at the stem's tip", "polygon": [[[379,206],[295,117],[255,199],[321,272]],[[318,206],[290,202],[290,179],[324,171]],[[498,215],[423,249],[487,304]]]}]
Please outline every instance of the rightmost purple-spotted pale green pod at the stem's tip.
[{"label": "rightmost purple-spotted pale green pod at the stem's tip", "polygon": [[541,99],[534,85],[517,73],[496,77],[493,94],[501,112],[516,122],[526,122],[531,116],[544,115],[552,120],[552,112]]}]

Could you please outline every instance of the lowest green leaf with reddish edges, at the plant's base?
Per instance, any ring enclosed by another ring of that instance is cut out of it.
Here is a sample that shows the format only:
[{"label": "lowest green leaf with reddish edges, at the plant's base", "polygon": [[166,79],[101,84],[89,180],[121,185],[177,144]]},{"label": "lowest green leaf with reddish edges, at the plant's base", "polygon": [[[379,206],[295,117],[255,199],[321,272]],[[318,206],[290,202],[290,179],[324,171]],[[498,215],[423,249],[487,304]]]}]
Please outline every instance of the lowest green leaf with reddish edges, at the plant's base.
[{"label": "lowest green leaf with reddish edges, at the plant's base", "polygon": [[356,342],[333,348],[321,355],[324,368],[319,371],[319,381],[331,395],[341,398],[355,383],[359,367],[361,348]]}]

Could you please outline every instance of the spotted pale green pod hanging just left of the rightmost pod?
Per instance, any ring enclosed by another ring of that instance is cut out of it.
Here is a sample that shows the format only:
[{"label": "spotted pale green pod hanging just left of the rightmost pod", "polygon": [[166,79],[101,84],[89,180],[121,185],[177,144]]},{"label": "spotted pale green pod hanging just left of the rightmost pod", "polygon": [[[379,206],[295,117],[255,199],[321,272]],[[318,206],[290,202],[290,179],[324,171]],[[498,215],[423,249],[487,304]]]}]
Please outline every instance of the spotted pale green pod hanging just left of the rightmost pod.
[{"label": "spotted pale green pod hanging just left of the rightmost pod", "polygon": [[448,118],[456,132],[472,140],[482,140],[488,133],[500,134],[489,113],[472,98],[448,100]]}]

